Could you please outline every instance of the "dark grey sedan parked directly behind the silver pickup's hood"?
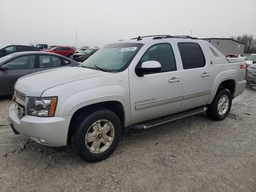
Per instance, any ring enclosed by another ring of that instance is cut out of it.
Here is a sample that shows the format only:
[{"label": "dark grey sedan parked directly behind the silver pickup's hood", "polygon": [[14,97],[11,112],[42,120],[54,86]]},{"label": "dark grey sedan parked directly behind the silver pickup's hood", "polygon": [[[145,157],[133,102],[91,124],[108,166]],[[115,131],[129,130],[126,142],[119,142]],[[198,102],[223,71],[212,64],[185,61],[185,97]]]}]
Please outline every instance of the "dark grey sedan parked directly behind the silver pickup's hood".
[{"label": "dark grey sedan parked directly behind the silver pickup's hood", "polygon": [[76,65],[76,61],[55,53],[18,52],[4,56],[0,58],[0,96],[14,94],[14,84],[21,76]]}]

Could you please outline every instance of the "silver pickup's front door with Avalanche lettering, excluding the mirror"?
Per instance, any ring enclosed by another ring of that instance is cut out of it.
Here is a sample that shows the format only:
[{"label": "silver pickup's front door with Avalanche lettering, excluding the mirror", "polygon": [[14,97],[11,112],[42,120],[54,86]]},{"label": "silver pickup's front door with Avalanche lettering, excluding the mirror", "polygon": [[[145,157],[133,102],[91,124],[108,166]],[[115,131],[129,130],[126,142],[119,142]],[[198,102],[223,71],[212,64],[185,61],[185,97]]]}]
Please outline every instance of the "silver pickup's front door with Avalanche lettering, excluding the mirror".
[{"label": "silver pickup's front door with Avalanche lettering, excluding the mirror", "polygon": [[182,76],[172,46],[155,44],[148,48],[137,66],[145,61],[158,61],[160,72],[136,75],[129,68],[131,124],[176,113],[182,103]]}]

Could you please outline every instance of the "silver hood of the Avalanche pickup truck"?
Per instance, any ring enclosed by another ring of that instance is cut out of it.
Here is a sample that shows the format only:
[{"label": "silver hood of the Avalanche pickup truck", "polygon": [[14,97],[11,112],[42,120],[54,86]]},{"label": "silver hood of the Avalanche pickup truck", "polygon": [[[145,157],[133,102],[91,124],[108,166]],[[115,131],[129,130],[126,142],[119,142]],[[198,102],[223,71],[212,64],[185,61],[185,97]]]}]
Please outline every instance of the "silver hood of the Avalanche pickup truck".
[{"label": "silver hood of the Avalanche pickup truck", "polygon": [[14,89],[26,94],[26,96],[40,97],[48,88],[107,74],[111,73],[82,67],[55,68],[19,78]]}]

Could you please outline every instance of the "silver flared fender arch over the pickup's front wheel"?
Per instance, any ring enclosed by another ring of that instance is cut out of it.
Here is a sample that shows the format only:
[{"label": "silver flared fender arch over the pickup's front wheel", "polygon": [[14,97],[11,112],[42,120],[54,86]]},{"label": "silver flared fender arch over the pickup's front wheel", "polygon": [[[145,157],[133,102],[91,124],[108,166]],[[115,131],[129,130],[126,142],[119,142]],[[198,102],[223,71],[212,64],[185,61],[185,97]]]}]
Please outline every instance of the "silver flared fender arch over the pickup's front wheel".
[{"label": "silver flared fender arch over the pickup's front wheel", "polygon": [[117,101],[123,105],[125,126],[129,126],[131,121],[129,93],[120,85],[100,86],[76,92],[64,100],[58,116],[73,115],[82,107],[106,101]]}]

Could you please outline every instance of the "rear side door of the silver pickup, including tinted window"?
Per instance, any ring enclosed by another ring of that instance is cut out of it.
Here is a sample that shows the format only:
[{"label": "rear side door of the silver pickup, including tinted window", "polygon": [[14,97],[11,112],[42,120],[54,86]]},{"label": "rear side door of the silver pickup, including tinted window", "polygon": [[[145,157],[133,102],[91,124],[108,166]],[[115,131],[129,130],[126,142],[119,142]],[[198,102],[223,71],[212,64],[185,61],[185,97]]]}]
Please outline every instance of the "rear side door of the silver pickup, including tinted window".
[{"label": "rear side door of the silver pickup, including tinted window", "polygon": [[180,111],[206,105],[212,90],[209,61],[198,43],[180,42],[178,50],[183,67],[183,100]]}]

